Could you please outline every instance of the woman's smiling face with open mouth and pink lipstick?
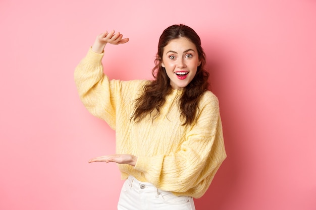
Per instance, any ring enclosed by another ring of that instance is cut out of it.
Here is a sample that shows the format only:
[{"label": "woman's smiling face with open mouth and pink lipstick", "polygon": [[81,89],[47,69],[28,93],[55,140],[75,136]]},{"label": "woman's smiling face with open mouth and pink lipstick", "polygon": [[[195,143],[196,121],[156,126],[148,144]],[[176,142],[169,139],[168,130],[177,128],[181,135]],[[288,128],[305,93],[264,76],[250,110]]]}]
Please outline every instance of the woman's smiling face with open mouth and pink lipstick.
[{"label": "woman's smiling face with open mouth and pink lipstick", "polygon": [[195,45],[185,37],[173,39],[164,47],[162,66],[166,69],[172,89],[186,87],[200,64]]}]

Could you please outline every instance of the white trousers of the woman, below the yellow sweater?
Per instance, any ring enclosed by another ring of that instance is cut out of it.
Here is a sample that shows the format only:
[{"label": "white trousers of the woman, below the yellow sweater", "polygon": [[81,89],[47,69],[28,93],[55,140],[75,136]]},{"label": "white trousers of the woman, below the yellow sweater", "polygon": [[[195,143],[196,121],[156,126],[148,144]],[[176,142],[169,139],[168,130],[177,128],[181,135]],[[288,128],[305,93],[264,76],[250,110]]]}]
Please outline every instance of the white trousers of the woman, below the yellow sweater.
[{"label": "white trousers of the woman, below the yellow sweater", "polygon": [[195,210],[195,206],[192,197],[176,196],[129,176],[122,186],[118,210]]}]

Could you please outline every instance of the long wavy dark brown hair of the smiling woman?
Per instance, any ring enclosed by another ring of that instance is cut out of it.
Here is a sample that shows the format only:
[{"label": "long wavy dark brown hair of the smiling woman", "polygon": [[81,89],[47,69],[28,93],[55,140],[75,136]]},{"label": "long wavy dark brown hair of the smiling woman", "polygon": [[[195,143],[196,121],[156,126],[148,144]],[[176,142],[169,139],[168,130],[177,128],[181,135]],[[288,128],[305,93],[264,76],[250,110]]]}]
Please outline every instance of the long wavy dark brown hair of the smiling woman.
[{"label": "long wavy dark brown hair of the smiling woman", "polygon": [[[164,47],[171,40],[180,37],[188,38],[196,46],[199,60],[201,61],[201,64],[197,67],[195,77],[184,88],[179,103],[180,117],[182,116],[185,119],[182,125],[194,122],[199,110],[198,103],[200,98],[209,86],[209,73],[204,69],[206,60],[205,53],[201,47],[200,37],[192,28],[183,24],[168,27],[160,36],[158,51],[154,60],[155,66],[152,69],[154,80],[143,87],[143,94],[135,101],[135,111],[131,117],[135,121],[139,121],[147,114],[152,115],[153,113],[155,114],[153,114],[152,119],[155,119],[159,115],[161,107],[166,102],[166,96],[171,93],[170,79],[167,76],[165,68],[162,67],[162,58]],[[156,112],[153,112],[154,110]]]}]

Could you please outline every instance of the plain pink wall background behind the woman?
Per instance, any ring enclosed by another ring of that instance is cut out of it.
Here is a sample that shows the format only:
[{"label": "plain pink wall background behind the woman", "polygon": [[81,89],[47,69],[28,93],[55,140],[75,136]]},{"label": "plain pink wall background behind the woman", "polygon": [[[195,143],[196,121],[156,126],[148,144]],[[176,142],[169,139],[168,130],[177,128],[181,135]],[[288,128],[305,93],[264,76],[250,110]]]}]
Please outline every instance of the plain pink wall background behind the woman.
[{"label": "plain pink wall background behind the woman", "polygon": [[198,210],[316,209],[316,2],[0,2],[0,209],[116,209],[114,131],[90,115],[74,68],[97,34],[111,78],[151,78],[162,31],[201,37],[228,158]]}]

